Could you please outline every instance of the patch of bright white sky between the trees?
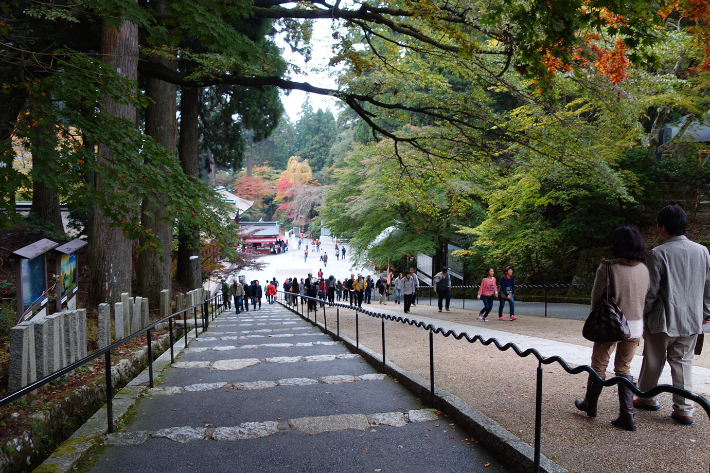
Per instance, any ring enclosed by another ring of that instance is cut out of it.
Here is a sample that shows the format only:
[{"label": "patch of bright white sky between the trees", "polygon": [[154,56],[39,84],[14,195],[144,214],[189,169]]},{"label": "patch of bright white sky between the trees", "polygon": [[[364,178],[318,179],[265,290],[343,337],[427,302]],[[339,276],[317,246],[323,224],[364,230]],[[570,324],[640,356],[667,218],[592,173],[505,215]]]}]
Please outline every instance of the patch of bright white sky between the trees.
[{"label": "patch of bright white sky between the trees", "polygon": [[[283,57],[289,62],[299,65],[307,74],[293,75],[291,79],[295,82],[309,82],[316,87],[324,87],[327,89],[335,89],[337,87],[336,77],[332,77],[332,73],[337,71],[337,68],[328,67],[328,60],[332,57],[332,45],[335,40],[332,38],[332,21],[316,20],[313,25],[313,35],[311,39],[312,59],[306,64],[301,55],[291,52],[288,45],[285,44],[282,38],[276,38],[276,44],[283,50]],[[281,91],[281,101],[286,109],[291,121],[297,121],[300,117],[303,102],[310,95],[311,106],[313,110],[318,108],[329,108],[334,115],[339,112],[340,101],[329,96],[319,94],[308,94],[307,92],[293,90],[287,96],[284,91]]]}]

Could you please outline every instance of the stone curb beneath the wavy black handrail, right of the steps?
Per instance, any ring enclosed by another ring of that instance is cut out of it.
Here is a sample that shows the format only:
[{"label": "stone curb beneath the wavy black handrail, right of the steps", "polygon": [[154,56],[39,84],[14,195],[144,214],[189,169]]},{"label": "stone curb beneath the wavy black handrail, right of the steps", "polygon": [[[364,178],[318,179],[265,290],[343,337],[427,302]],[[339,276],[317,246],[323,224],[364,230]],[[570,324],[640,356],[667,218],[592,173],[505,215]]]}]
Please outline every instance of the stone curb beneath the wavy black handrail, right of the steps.
[{"label": "stone curb beneath the wavy black handrail, right of the steps", "polygon": [[[327,328],[319,321],[301,316],[299,312],[294,311],[289,306],[284,306],[293,313],[297,314],[305,321],[316,325],[324,333],[327,333],[334,340],[337,340],[337,333],[332,330],[331,325]],[[382,368],[382,355],[368,347],[359,344],[359,351],[356,349],[356,341],[344,335],[340,335],[340,340],[348,347],[351,352],[359,353],[366,362],[377,369]],[[430,381],[420,375],[401,369],[390,360],[386,360],[385,374],[390,374],[395,377],[400,384],[409,389],[415,396],[420,399],[430,399]],[[518,437],[510,433],[505,428],[501,427],[496,421],[488,418],[481,411],[471,407],[457,396],[444,391],[444,389],[435,386],[434,389],[435,404],[439,410],[449,414],[452,421],[459,423],[462,427],[471,433],[471,435],[479,440],[488,450],[494,452],[501,462],[506,463],[506,466],[513,472],[528,473],[535,467],[535,450],[527,443],[520,440]],[[545,473],[569,473],[567,469],[559,466],[545,455],[540,454],[540,471]]]}]

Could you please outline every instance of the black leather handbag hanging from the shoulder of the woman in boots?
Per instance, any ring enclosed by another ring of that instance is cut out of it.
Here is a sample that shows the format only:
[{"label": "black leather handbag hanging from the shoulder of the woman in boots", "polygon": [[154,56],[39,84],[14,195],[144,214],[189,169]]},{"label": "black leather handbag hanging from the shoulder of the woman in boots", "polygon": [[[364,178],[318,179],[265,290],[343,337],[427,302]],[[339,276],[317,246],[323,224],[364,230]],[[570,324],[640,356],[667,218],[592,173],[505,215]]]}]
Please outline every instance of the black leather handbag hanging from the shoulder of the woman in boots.
[{"label": "black leather handbag hanging from the shoulder of the woman in boots", "polygon": [[616,305],[613,296],[609,294],[610,286],[611,262],[606,260],[606,289],[601,293],[599,301],[596,302],[594,310],[589,313],[581,330],[581,335],[591,342],[621,342],[631,335],[626,316]]}]

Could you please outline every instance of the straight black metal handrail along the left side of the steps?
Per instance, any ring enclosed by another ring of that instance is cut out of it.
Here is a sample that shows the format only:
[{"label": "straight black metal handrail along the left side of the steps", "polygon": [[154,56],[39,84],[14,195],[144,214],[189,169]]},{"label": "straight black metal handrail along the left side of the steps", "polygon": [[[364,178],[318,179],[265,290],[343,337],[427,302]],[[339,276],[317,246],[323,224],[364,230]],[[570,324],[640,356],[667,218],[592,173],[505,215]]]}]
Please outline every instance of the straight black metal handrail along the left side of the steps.
[{"label": "straight black metal handrail along the left side of the steps", "polygon": [[[212,311],[210,311],[210,307],[212,308]],[[38,389],[45,384],[48,384],[50,382],[53,382],[55,379],[58,379],[62,376],[64,376],[67,373],[70,373],[77,369],[78,367],[81,367],[82,365],[97,359],[98,357],[104,355],[106,358],[106,373],[104,376],[106,377],[106,396],[107,396],[107,418],[108,418],[108,428],[109,428],[109,433],[112,433],[114,431],[114,422],[113,422],[113,387],[111,385],[111,350],[116,349],[117,347],[120,347],[121,345],[124,345],[125,343],[129,342],[130,340],[133,340],[133,338],[136,338],[140,335],[143,335],[144,333],[146,334],[146,338],[148,341],[148,385],[149,387],[153,387],[153,345],[152,345],[152,340],[151,340],[151,330],[155,328],[157,325],[160,325],[161,323],[165,323],[165,321],[168,322],[168,329],[170,332],[170,362],[174,363],[175,362],[175,352],[173,350],[173,318],[177,316],[182,316],[182,319],[184,321],[184,330],[185,330],[185,348],[187,348],[187,333],[189,331],[187,330],[187,316],[190,311],[192,311],[195,315],[195,337],[199,336],[198,332],[198,327],[197,327],[197,311],[198,308],[200,308],[200,318],[202,319],[202,331],[207,329],[209,326],[209,314],[210,312],[212,313],[212,319],[214,320],[214,314],[217,312],[219,308],[224,307],[224,302],[222,300],[222,294],[217,294],[209,299],[205,299],[204,301],[200,302],[199,304],[195,304],[192,307],[187,307],[182,309],[181,311],[175,312],[170,314],[169,316],[165,316],[163,318],[160,318],[160,320],[155,321],[148,325],[146,328],[142,328],[141,330],[138,330],[135,333],[131,333],[131,335],[128,335],[127,337],[121,338],[121,340],[117,340],[114,343],[111,343],[111,345],[108,345],[107,347],[104,347],[100,350],[97,350],[93,352],[91,355],[88,355],[86,357],[83,357],[81,360],[78,360],[76,362],[73,362],[71,365],[64,367],[56,372],[53,372],[52,374],[48,374],[47,376],[43,377],[42,379],[38,379],[38,381],[33,382],[32,384],[29,384],[28,386],[23,387],[22,389],[19,389],[18,391],[13,392],[12,394],[9,394],[8,396],[5,396],[4,398],[0,399],[0,407],[6,406],[7,404],[10,404],[12,401],[15,401],[16,399],[20,399],[22,396],[26,396],[27,394],[31,394],[32,391],[35,391],[35,389]]]}]

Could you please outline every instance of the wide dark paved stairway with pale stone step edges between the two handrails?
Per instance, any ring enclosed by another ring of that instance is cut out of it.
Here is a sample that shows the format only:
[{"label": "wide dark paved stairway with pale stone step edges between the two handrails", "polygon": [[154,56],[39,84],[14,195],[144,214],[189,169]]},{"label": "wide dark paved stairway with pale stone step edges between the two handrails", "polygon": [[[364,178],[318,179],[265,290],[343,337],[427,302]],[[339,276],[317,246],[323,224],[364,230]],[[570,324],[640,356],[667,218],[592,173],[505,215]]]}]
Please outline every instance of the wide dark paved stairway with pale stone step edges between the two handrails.
[{"label": "wide dark paved stairway with pale stone step edges between the two handrails", "polygon": [[508,471],[278,304],[215,319],[104,445],[92,472]]}]

